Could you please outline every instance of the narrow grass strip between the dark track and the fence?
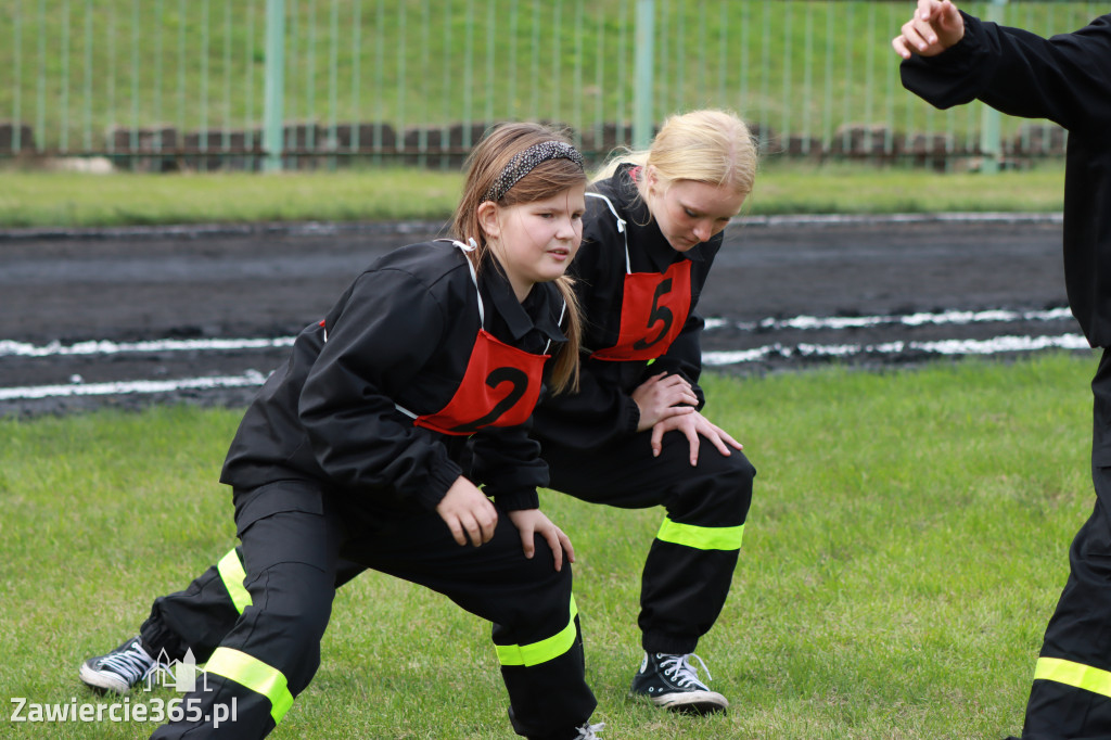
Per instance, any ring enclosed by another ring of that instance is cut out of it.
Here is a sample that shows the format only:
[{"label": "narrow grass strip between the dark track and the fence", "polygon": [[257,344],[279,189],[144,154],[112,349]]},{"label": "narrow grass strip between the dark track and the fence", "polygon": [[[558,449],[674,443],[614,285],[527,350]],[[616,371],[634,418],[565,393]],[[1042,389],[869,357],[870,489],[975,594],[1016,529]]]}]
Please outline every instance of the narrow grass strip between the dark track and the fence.
[{"label": "narrow grass strip between the dark track and the fence", "polygon": [[[1063,168],[994,177],[771,164],[745,213],[1060,211]],[[447,220],[459,173],[77,174],[0,170],[0,228],[258,221]]]}]

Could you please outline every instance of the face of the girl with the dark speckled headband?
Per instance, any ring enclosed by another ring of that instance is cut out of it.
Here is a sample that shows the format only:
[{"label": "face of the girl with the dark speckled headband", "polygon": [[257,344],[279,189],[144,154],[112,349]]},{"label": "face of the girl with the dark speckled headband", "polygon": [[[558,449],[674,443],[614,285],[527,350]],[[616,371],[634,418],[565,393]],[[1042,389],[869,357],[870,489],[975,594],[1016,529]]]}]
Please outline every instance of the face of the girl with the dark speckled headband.
[{"label": "face of the girl with the dark speckled headband", "polygon": [[487,201],[479,219],[487,241],[523,301],[538,282],[562,276],[582,241],[585,187],[577,186],[551,198],[517,206]]}]

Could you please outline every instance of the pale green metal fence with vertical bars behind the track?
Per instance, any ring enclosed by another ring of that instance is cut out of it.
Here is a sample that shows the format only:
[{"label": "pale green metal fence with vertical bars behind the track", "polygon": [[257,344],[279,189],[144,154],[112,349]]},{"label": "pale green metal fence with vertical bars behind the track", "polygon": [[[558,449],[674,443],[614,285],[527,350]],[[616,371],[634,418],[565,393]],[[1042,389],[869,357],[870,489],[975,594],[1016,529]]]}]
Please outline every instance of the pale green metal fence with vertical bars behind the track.
[{"label": "pale green metal fence with vertical bars behind the track", "polygon": [[[286,167],[353,159],[457,167],[489,123],[507,119],[567,124],[599,157],[632,142],[638,110],[658,122],[707,106],[740,112],[768,154],[978,156],[979,104],[935,111],[899,84],[889,42],[913,7],[0,0],[0,157],[258,169],[268,149],[277,158],[280,140]],[[962,8],[1042,34],[1105,11],[1025,0]],[[647,93],[634,84],[638,54],[651,73]],[[276,110],[267,139],[267,113]],[[1000,138],[1004,159],[1063,147],[1054,127],[1007,118]]]}]

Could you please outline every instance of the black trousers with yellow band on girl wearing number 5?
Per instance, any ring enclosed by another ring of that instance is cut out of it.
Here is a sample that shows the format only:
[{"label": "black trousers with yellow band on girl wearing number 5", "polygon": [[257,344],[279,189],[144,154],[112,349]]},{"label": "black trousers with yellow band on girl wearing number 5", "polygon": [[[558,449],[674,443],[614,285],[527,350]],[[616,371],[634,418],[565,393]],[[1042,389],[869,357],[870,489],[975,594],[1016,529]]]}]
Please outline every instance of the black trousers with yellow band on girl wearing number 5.
[{"label": "black trousers with yellow band on girl wearing number 5", "polygon": [[648,652],[694,652],[729,594],[752,500],[755,469],[738,450],[701,440],[690,463],[687,438],[670,431],[652,457],[651,431],[584,451],[541,440],[550,488],[623,509],[663,506],[663,524],[641,577],[638,623]]}]

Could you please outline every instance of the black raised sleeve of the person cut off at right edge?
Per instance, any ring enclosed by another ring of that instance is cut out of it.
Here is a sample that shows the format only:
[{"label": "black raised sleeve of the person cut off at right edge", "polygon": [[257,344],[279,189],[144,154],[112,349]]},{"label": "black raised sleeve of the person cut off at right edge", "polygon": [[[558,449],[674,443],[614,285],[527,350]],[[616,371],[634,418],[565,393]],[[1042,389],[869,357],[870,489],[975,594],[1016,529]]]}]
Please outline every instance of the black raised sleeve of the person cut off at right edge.
[{"label": "black raised sleeve of the person cut off at right edge", "polygon": [[979,99],[1070,130],[1111,120],[1111,16],[1044,39],[961,14],[964,37],[937,57],[904,60],[903,87],[938,108]]}]

